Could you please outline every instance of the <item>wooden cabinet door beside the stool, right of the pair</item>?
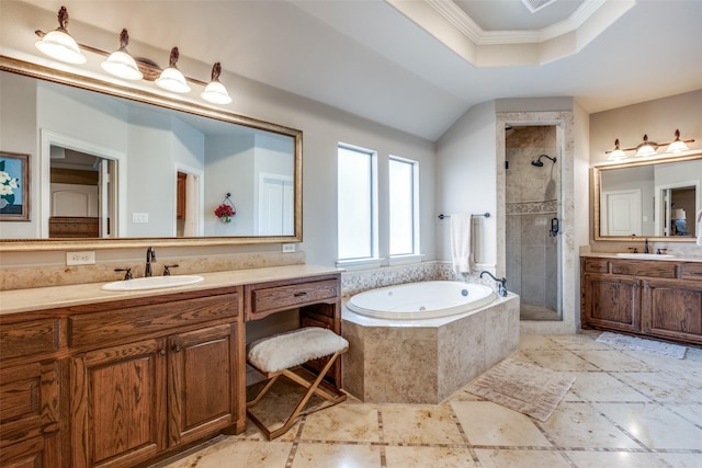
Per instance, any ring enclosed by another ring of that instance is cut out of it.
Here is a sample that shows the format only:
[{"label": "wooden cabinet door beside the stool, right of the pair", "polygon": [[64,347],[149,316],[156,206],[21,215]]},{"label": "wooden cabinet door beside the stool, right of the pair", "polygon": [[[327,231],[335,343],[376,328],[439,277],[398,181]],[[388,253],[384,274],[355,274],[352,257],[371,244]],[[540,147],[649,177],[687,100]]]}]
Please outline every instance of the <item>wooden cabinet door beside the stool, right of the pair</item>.
[{"label": "wooden cabinet door beside the stool, right of the pair", "polygon": [[236,331],[223,324],[169,339],[169,446],[237,422]]}]

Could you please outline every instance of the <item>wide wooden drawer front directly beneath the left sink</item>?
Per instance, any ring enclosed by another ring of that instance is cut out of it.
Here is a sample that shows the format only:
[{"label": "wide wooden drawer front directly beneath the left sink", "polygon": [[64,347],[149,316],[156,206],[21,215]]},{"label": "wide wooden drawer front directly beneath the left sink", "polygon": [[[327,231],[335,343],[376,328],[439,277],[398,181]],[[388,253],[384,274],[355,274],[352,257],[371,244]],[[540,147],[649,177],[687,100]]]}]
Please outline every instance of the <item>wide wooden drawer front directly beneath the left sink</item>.
[{"label": "wide wooden drawer front directly beneath the left sink", "polygon": [[182,299],[150,306],[112,306],[110,310],[69,317],[71,346],[102,345],[133,336],[239,315],[239,294]]}]

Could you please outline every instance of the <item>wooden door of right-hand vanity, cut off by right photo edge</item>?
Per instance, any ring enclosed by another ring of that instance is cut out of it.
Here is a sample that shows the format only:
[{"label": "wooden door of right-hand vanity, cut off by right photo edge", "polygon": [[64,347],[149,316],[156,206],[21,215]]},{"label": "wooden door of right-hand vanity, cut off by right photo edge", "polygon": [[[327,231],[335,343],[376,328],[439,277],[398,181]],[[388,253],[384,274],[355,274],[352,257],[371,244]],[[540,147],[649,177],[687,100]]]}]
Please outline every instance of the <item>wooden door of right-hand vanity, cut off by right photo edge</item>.
[{"label": "wooden door of right-hand vanity, cut off by right photo edge", "polygon": [[702,283],[644,282],[644,332],[688,343],[702,343]]}]

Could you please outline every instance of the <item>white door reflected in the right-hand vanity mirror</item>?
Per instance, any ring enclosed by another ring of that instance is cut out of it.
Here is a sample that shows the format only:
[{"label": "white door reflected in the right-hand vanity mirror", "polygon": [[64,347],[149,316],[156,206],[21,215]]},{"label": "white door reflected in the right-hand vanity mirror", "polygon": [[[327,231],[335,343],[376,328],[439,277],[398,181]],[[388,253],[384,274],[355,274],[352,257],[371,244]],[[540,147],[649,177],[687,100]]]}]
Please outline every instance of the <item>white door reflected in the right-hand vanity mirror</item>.
[{"label": "white door reflected in the right-hand vanity mirror", "polygon": [[641,236],[641,190],[602,193],[602,236]]}]

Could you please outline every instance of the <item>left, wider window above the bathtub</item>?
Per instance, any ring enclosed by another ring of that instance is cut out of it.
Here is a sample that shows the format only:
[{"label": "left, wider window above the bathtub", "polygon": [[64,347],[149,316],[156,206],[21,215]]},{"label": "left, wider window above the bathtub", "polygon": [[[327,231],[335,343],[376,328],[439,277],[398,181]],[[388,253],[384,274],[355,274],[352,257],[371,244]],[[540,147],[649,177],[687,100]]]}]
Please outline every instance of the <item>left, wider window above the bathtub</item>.
[{"label": "left, wider window above the bathtub", "polygon": [[377,256],[377,184],[375,152],[339,145],[339,261]]}]

